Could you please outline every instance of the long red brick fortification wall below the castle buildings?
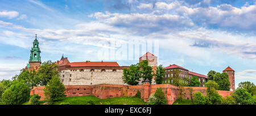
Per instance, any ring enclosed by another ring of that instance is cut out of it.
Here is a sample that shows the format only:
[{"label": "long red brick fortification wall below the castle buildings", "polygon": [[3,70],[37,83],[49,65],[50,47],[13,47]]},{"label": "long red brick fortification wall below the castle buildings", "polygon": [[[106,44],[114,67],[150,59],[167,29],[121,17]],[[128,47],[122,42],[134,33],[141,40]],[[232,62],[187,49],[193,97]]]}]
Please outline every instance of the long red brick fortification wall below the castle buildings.
[{"label": "long red brick fortification wall below the castle buildings", "polygon": [[[90,96],[93,95],[95,97],[104,99],[104,98],[113,98],[113,97],[125,97],[125,96],[135,96],[137,91],[141,92],[141,98],[144,101],[147,101],[150,94],[154,94],[157,88],[162,88],[164,94],[167,98],[167,104],[171,105],[174,101],[177,100],[177,96],[179,96],[179,88],[171,85],[171,84],[156,84],[150,85],[144,83],[144,85],[112,85],[112,84],[99,84],[99,85],[72,85],[65,86],[65,94],[67,97],[72,96]],[[184,88],[184,96],[185,99],[191,99],[189,97],[189,93],[187,91],[188,87]],[[207,88],[206,87],[192,87],[194,92],[201,92],[206,95]],[[40,100],[44,100],[44,87],[34,87],[30,91],[30,95],[38,94],[41,96]],[[232,91],[218,91],[223,97],[230,95]]]}]

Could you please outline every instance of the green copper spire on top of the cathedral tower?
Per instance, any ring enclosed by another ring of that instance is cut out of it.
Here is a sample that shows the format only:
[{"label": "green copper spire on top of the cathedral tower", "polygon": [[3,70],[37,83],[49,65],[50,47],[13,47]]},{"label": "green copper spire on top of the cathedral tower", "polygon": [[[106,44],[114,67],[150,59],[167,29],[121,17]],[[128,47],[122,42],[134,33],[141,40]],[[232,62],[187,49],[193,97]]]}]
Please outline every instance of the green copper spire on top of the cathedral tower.
[{"label": "green copper spire on top of the cathedral tower", "polygon": [[30,62],[41,62],[41,57],[40,57],[40,48],[39,48],[39,42],[36,39],[35,36],[35,40],[33,42],[33,46],[30,50]]}]

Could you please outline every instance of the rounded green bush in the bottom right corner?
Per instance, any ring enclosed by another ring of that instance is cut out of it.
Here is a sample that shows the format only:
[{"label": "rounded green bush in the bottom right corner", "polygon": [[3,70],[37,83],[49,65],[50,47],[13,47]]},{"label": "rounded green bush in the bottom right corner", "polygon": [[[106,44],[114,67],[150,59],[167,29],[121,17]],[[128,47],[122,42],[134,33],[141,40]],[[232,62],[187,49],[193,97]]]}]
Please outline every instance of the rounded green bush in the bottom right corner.
[{"label": "rounded green bush in the bottom right corner", "polygon": [[253,105],[254,104],[254,98],[251,96],[249,92],[246,91],[246,89],[238,88],[234,93],[232,94],[232,97],[236,100],[236,104],[239,105]]}]

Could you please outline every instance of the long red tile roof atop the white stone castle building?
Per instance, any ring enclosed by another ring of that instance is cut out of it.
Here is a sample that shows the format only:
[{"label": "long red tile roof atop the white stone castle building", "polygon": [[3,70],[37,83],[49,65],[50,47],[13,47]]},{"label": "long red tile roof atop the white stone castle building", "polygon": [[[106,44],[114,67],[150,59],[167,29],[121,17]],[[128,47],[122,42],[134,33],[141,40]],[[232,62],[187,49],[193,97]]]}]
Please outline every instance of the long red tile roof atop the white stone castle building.
[{"label": "long red tile roof atop the white stone castle building", "polygon": [[71,62],[67,65],[71,67],[119,67],[117,62]]}]

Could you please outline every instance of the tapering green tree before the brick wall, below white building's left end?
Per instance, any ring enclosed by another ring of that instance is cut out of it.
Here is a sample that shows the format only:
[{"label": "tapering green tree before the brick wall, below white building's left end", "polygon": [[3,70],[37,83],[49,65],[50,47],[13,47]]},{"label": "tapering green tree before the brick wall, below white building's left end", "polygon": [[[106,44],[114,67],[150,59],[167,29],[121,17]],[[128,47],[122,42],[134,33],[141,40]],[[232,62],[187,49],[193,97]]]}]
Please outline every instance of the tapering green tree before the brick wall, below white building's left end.
[{"label": "tapering green tree before the brick wall, below white building's left end", "polygon": [[54,76],[44,88],[46,100],[51,104],[56,98],[65,97],[65,87],[57,76]]}]

